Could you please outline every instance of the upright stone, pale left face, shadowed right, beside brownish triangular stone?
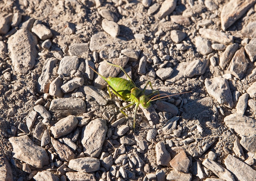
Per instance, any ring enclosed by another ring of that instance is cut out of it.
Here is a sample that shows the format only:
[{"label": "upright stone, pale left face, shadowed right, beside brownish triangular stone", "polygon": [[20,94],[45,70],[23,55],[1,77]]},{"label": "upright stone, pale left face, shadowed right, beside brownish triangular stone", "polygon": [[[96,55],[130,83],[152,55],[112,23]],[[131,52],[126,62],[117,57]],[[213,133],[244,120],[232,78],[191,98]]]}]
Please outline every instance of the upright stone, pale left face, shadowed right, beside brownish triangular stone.
[{"label": "upright stone, pale left face, shadowed right, beside brownish triangular stone", "polygon": [[155,152],[157,156],[157,165],[171,166],[170,165],[171,155],[166,150],[163,142],[158,142],[155,145]]}]

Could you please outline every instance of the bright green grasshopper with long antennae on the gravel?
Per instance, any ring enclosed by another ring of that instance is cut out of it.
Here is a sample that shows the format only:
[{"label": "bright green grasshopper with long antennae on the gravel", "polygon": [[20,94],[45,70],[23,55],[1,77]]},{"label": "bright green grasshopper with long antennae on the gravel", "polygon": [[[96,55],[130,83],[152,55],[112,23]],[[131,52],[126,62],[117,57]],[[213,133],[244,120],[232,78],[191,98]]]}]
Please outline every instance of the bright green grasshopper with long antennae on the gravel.
[{"label": "bright green grasshopper with long antennae on the gravel", "polygon": [[[109,63],[108,61],[107,61],[107,63],[112,66],[120,68],[124,72],[124,74],[126,74],[128,80],[119,78],[119,77],[108,77],[107,78],[107,77],[104,77],[101,74],[99,74],[99,72],[94,70],[90,65],[89,65],[89,67],[108,83],[107,88],[108,88],[108,93],[109,93],[110,99],[111,99],[111,93],[110,93],[110,89],[111,89],[112,92],[115,95],[117,95],[119,98],[121,98],[122,100],[124,100],[126,102],[130,102],[130,104],[126,105],[125,107],[120,108],[120,112],[123,113],[126,117],[128,117],[128,116],[126,115],[126,113],[123,110],[135,104],[135,112],[134,112],[134,116],[133,116],[133,129],[135,129],[135,116],[137,115],[137,109],[139,107],[139,104],[141,104],[141,106],[144,108],[148,108],[148,107],[150,107],[150,102],[153,100],[177,95],[177,94],[173,94],[173,95],[159,94],[159,90],[154,90],[150,81],[147,81],[146,86],[144,87],[143,90],[141,90],[138,87],[136,87],[135,83],[132,81],[132,79],[127,74],[127,72],[124,70],[124,68],[122,68],[119,65]],[[144,92],[148,85],[150,85],[150,87],[152,89],[152,93],[146,95],[146,94],[144,94]],[[156,96],[153,96],[152,98],[148,98],[149,96],[152,96],[155,93],[158,93],[158,94]],[[187,93],[187,92],[185,92],[185,93]],[[167,95],[167,96],[156,98],[157,96],[161,96],[161,95]]]}]

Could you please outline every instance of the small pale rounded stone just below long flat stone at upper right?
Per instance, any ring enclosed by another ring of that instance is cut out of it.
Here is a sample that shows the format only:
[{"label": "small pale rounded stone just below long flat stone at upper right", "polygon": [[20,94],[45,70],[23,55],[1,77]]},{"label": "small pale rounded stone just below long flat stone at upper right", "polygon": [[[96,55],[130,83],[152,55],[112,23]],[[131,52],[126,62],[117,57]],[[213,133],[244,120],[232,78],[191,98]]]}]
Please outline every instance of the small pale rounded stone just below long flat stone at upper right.
[{"label": "small pale rounded stone just below long flat stone at upper right", "polygon": [[208,55],[212,52],[211,42],[202,37],[195,37],[195,47],[197,48],[197,52],[202,55]]}]

